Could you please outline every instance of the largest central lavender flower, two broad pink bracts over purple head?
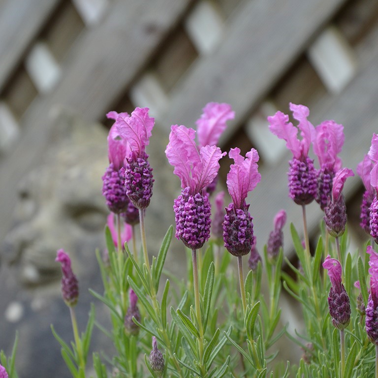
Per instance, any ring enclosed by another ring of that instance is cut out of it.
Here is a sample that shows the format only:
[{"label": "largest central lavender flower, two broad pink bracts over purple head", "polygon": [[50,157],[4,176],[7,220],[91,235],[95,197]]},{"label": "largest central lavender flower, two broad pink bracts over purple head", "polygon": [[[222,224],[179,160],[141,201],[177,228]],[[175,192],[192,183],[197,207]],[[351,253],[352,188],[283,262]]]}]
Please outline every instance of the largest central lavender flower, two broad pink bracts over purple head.
[{"label": "largest central lavender flower, two broad pink bracts over purple head", "polygon": [[173,125],[165,154],[173,173],[181,179],[181,195],[174,201],[176,238],[191,250],[201,248],[210,236],[210,202],[204,188],[218,174],[219,160],[225,153],[216,146],[198,151],[195,131]]}]

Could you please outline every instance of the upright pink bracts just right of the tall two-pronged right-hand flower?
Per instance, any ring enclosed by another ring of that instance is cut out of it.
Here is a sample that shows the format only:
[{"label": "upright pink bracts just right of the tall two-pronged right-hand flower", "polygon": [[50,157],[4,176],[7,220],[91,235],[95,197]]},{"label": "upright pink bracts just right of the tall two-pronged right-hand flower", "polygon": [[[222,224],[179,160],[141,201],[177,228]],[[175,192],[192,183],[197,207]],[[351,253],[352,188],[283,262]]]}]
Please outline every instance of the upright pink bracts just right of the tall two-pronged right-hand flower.
[{"label": "upright pink bracts just right of the tall two-pronged right-hand flower", "polygon": [[313,145],[320,166],[329,164],[334,167],[335,171],[341,168],[341,159],[337,155],[341,153],[344,145],[343,130],[344,126],[335,121],[324,121],[316,126]]}]

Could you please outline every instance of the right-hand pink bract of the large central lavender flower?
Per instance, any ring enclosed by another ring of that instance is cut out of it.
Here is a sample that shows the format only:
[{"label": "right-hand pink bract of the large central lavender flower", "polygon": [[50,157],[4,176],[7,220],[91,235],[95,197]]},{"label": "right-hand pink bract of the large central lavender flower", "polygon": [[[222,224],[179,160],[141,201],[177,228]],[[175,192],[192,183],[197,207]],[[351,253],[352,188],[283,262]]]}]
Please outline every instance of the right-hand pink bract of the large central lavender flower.
[{"label": "right-hand pink bract of the large central lavender flower", "polygon": [[205,146],[199,150],[200,162],[193,164],[192,182],[190,189],[192,193],[199,193],[216,178],[219,171],[219,160],[226,155],[217,146]]}]

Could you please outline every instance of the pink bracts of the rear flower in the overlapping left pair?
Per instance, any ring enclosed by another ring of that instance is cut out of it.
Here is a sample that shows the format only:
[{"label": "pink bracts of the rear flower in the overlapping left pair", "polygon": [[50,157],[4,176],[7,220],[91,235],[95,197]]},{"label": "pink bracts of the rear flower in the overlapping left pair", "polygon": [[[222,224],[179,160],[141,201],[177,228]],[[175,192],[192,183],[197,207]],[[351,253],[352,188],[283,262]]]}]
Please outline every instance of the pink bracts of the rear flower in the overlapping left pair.
[{"label": "pink bracts of the rear flower in the overlapping left pair", "polygon": [[[129,117],[127,113],[109,112],[106,114],[108,119],[117,121],[118,117]],[[126,166],[126,158],[130,155],[130,146],[125,138],[123,138],[117,128],[115,122],[109,130],[108,134],[108,157],[109,162],[113,163],[115,170],[120,170],[121,167]]]}]

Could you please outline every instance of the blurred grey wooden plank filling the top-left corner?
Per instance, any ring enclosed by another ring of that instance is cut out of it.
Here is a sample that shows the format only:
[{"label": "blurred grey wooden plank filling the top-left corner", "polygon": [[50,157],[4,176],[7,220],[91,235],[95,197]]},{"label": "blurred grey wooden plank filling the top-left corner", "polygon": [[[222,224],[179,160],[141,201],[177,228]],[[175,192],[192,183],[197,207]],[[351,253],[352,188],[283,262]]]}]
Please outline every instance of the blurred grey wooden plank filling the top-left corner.
[{"label": "blurred grey wooden plank filling the top-left corner", "polygon": [[6,0],[0,5],[0,90],[60,0]]}]

